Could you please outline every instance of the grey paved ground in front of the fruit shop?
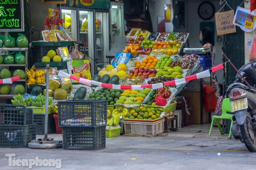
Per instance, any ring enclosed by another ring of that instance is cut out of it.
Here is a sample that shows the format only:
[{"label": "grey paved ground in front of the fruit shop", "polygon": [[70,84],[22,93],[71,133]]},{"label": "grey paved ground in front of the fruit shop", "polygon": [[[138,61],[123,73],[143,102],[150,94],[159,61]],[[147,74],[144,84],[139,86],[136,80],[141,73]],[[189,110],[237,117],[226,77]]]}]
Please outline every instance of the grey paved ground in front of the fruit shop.
[{"label": "grey paved ground in front of the fruit shop", "polygon": [[[3,170],[25,170],[28,167],[8,166],[6,153],[15,153],[16,159],[61,159],[63,170],[252,170],[256,153],[249,152],[243,143],[220,135],[214,128],[208,137],[210,124],[190,125],[177,132],[162,133],[157,137],[119,136],[106,139],[106,148],[100,150],[1,148]],[[42,136],[42,135],[41,135]],[[37,135],[37,137],[41,137]],[[50,134],[54,140],[62,135]],[[36,170],[55,167],[33,166]]]}]

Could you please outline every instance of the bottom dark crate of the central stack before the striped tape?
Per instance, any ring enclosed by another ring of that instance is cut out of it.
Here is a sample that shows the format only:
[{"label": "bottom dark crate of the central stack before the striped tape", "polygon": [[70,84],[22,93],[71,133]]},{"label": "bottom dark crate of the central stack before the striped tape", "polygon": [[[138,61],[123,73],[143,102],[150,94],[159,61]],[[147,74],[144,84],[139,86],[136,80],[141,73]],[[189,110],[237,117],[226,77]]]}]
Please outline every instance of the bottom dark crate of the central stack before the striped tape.
[{"label": "bottom dark crate of the central stack before the striped tape", "polygon": [[63,149],[97,150],[106,147],[106,126],[62,127]]}]

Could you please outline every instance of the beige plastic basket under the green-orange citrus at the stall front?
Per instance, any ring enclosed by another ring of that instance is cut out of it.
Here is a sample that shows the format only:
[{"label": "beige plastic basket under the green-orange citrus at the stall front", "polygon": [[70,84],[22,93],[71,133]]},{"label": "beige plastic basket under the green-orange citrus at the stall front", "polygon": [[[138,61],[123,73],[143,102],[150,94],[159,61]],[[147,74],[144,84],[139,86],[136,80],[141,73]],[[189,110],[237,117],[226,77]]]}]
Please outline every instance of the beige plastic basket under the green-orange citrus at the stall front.
[{"label": "beige plastic basket under the green-orange citrus at the stall front", "polygon": [[124,120],[126,135],[154,136],[164,132],[164,119],[156,122],[135,122]]}]

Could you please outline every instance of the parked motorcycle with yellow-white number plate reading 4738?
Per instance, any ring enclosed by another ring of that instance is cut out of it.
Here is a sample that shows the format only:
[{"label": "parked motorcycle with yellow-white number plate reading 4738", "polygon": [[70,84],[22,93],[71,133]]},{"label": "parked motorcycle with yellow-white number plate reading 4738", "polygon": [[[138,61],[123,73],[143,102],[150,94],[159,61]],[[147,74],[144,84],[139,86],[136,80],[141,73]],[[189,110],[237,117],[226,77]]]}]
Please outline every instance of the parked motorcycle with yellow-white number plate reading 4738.
[{"label": "parked motorcycle with yellow-white number plate reading 4738", "polygon": [[244,64],[238,72],[227,89],[234,113],[232,134],[250,152],[256,152],[256,61]]}]

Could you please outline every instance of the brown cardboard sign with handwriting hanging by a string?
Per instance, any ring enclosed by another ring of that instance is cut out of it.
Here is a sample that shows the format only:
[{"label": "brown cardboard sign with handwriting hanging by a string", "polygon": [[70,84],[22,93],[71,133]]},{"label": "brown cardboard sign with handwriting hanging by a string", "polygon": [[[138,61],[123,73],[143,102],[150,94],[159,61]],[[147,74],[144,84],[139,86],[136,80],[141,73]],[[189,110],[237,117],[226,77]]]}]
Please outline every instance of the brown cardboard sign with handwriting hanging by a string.
[{"label": "brown cardboard sign with handwriting hanging by a string", "polygon": [[234,10],[218,12],[215,14],[215,23],[217,35],[224,35],[236,32],[236,26],[233,24]]}]

